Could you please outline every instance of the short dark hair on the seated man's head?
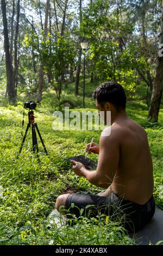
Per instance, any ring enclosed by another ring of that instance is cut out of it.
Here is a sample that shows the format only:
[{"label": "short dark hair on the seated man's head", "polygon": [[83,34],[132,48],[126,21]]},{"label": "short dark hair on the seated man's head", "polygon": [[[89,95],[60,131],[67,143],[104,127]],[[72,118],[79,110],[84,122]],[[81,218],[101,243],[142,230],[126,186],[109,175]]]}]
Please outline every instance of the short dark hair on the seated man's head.
[{"label": "short dark hair on the seated man's head", "polygon": [[105,102],[112,103],[120,111],[126,108],[126,94],[121,84],[117,82],[105,82],[100,84],[93,95],[102,106]]}]

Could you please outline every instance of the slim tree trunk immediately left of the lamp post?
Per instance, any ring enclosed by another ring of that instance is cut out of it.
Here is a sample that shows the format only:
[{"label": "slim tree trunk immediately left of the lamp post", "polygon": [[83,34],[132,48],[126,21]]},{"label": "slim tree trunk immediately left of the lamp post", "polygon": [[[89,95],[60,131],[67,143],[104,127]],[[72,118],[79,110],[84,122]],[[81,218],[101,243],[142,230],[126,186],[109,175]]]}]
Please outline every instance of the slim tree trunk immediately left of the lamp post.
[{"label": "slim tree trunk immediately left of the lamp post", "polygon": [[[82,25],[82,0],[79,2],[79,17],[80,17],[80,28]],[[79,37],[79,42],[82,42],[81,36]],[[76,73],[76,86],[75,86],[75,95],[79,94],[79,78],[80,78],[80,66],[81,66],[81,57],[82,57],[82,48],[79,50],[79,56],[78,56],[78,64],[77,64],[77,73]]]}]

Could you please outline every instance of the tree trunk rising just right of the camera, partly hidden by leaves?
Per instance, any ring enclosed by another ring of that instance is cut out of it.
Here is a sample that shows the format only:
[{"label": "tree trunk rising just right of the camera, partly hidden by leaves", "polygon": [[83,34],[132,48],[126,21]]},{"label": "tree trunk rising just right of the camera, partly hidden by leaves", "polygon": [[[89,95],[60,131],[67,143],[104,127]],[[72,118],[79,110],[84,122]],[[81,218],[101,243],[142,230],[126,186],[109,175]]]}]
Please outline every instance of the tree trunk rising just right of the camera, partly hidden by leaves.
[{"label": "tree trunk rising just right of the camera, partly hidden by leaves", "polygon": [[[45,14],[45,27],[44,27],[44,33],[45,36],[47,36],[47,25],[48,25],[48,14],[49,14],[49,0],[46,2],[46,14]],[[42,100],[42,88],[43,88],[43,65],[44,62],[41,60],[40,64],[40,70],[39,70],[39,92],[37,95],[37,102],[40,102]]]}]

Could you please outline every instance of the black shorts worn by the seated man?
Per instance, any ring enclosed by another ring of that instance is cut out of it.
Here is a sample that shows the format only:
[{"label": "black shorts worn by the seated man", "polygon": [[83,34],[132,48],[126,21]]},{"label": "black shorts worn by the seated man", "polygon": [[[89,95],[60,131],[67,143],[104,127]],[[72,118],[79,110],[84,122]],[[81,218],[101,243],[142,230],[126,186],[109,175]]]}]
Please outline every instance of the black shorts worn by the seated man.
[{"label": "black shorts worn by the seated man", "polygon": [[[133,203],[111,192],[108,197],[97,194],[70,194],[65,209],[67,218],[109,216],[111,221],[121,222],[128,231],[141,229],[153,217],[155,202],[153,196],[144,205]],[[84,209],[84,210],[81,210]]]}]

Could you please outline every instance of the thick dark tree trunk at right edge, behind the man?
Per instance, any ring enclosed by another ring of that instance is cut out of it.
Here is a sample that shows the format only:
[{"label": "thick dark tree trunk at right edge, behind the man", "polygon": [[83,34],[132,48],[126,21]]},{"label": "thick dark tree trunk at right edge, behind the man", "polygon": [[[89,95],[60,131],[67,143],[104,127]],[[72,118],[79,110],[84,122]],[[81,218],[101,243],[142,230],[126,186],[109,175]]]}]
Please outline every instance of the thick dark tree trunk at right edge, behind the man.
[{"label": "thick dark tree trunk at right edge, behind the man", "polygon": [[[160,44],[163,44],[163,0],[162,0]],[[153,121],[158,121],[161,96],[162,96],[162,82],[163,82],[162,70],[163,70],[163,57],[160,57],[158,54],[158,58],[156,60],[156,69],[155,69],[151,103],[150,103],[149,112],[148,112],[148,118]]]}]

